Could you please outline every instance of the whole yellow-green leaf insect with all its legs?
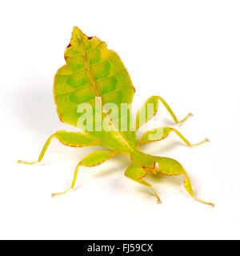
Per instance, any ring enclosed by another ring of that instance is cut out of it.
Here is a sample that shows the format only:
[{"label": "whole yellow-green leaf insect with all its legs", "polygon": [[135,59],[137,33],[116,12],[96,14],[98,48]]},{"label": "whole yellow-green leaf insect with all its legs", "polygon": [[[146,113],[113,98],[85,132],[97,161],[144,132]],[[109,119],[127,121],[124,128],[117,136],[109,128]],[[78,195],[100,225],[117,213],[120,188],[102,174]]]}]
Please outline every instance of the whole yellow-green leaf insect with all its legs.
[{"label": "whole yellow-green leaf insect with all its legs", "polygon": [[[162,140],[170,132],[178,134],[188,146],[192,146],[190,142],[178,130],[170,127],[149,130],[140,140],[136,138],[136,130],[156,114],[158,102],[162,102],[176,123],[186,121],[191,114],[178,121],[170,106],[161,97],[153,96],[138,111],[134,126],[130,109],[134,86],[125,66],[118,54],[107,49],[105,42],[96,37],[87,37],[78,27],[74,27],[70,45],[65,51],[65,59],[66,65],[62,66],[54,77],[54,100],[61,121],[77,126],[83,133],[61,130],[52,134],[46,141],[37,162],[42,161],[52,138],[57,138],[66,146],[106,146],[109,150],[98,150],[83,158],[75,169],[70,189],[52,196],[66,194],[74,188],[80,166],[97,166],[116,154],[126,154],[130,157],[131,163],[125,171],[125,176],[150,187],[157,198],[158,195],[150,183],[144,179],[146,174],[160,172],[166,175],[184,175],[185,189],[194,197],[190,179],[177,161],[144,154],[139,150],[140,145]],[[151,113],[146,113],[148,104],[153,106]],[[207,139],[203,142],[206,141]],[[203,202],[198,198],[195,199]],[[160,202],[158,198],[158,203]],[[203,203],[214,206],[208,202]]]}]

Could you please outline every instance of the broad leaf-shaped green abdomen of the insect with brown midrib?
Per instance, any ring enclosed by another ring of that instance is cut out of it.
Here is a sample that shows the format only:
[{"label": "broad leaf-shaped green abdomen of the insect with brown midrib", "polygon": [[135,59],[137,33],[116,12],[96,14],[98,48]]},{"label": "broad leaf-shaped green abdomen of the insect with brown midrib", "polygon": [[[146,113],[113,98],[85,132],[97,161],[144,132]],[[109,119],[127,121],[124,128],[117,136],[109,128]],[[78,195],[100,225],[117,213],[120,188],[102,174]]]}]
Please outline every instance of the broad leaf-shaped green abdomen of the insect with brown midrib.
[{"label": "broad leaf-shaped green abdomen of the insect with brown midrib", "polygon": [[[70,45],[65,51],[65,59],[66,65],[54,77],[54,99],[62,122],[78,126],[102,142],[107,140],[106,146],[113,149],[116,148],[115,142],[122,143],[128,149],[131,143],[135,146],[135,133],[120,131],[121,118],[126,118],[128,126],[131,125],[130,107],[122,114],[121,103],[132,102],[134,86],[118,54],[108,50],[105,42],[96,37],[89,38],[78,27],[74,27]],[[118,114],[110,117],[106,103],[118,106]],[[90,124],[92,129],[88,130],[79,122],[81,117],[86,117],[86,109],[85,112],[81,109],[84,104],[93,110],[88,114],[89,120],[93,122]],[[102,129],[104,119],[108,122],[110,131]]]}]

